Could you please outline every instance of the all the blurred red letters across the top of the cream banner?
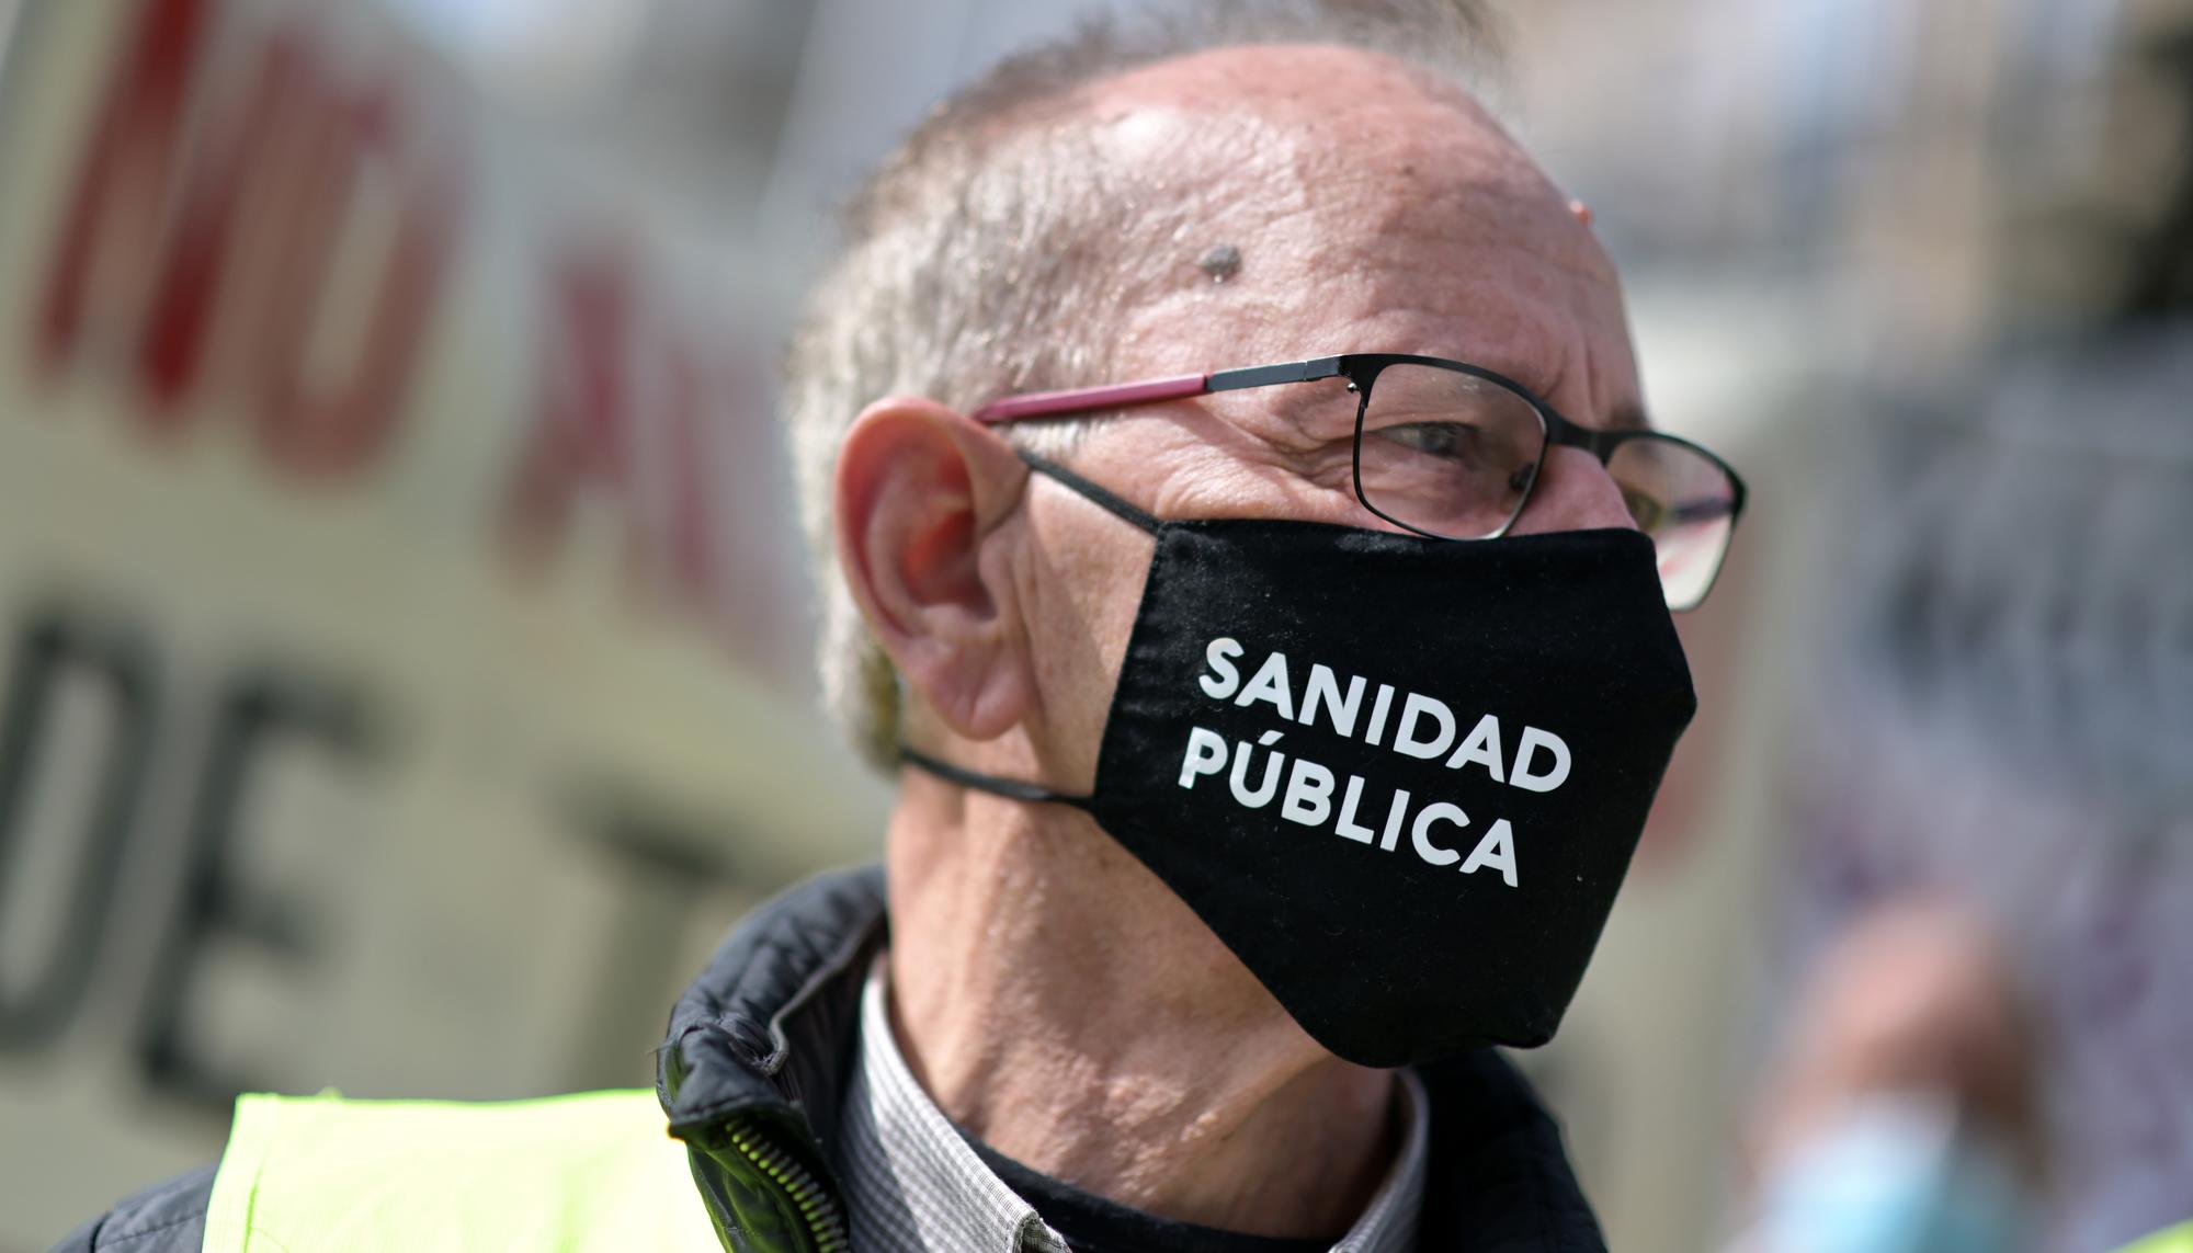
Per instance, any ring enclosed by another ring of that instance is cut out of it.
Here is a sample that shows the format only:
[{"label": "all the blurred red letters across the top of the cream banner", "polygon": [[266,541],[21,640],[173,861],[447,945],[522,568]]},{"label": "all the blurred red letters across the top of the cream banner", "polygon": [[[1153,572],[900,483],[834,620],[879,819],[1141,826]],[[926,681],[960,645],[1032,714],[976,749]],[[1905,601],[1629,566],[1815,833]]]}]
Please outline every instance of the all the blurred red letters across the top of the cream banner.
[{"label": "all the blurred red letters across the top of the cream banner", "polygon": [[[134,2],[57,206],[37,372],[121,370],[136,429],[230,414],[281,478],[353,482],[406,421],[458,248],[461,171],[432,158],[461,153],[408,136],[401,79],[338,57],[351,44],[309,7]],[[789,670],[779,449],[726,442],[761,396],[726,383],[715,331],[645,300],[625,254],[524,263],[550,280],[539,390],[496,482],[511,563],[544,570],[603,508],[632,589]]]}]

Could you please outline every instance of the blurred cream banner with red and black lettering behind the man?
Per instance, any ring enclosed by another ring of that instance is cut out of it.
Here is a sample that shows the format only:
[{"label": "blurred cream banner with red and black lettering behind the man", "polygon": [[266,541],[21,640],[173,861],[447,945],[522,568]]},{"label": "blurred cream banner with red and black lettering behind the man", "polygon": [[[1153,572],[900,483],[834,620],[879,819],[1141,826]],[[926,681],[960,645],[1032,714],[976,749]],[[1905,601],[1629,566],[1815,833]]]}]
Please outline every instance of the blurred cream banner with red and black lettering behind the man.
[{"label": "blurred cream banner with red and black lettering behind the man", "polygon": [[724,924],[873,852],[774,326],[616,191],[375,7],[20,13],[0,1249],[239,1089],[649,1082]]}]

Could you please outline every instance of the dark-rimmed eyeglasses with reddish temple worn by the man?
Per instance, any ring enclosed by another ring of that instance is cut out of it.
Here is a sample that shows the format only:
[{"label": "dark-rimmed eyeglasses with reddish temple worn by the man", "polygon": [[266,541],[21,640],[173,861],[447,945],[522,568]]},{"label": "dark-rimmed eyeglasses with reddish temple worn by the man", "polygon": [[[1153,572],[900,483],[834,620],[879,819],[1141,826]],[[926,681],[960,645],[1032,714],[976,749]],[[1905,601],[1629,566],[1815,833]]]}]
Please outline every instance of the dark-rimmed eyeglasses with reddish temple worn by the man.
[{"label": "dark-rimmed eyeglasses with reddish temple worn by the man", "polygon": [[1373,515],[1432,539],[1498,539],[1531,504],[1546,449],[1586,449],[1607,469],[1629,519],[1651,537],[1669,609],[1695,609],[1713,589],[1743,513],[1743,480],[1728,462],[1664,432],[1577,425],[1522,383],[1465,361],[1351,353],[1029,392],[982,405],[974,418],[1066,418],[1322,379],[1347,381],[1327,403],[1353,394],[1355,499]]}]

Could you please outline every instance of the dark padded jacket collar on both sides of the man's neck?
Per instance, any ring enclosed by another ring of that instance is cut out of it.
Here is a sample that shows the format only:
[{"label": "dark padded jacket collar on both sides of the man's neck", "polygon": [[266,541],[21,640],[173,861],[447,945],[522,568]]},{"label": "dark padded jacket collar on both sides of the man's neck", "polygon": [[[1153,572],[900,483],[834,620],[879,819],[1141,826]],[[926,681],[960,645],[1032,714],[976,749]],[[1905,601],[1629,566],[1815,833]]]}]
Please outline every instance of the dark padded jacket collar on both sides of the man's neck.
[{"label": "dark padded jacket collar on both sides of the man's neck", "polygon": [[[732,1115],[763,1115],[829,1172],[862,975],[886,933],[879,867],[811,878],[732,931],[678,999],[656,1056],[671,1133],[691,1139]],[[1419,1076],[1432,1104],[1425,1249],[1605,1251],[1559,1126],[1500,1054],[1480,1049]]]}]

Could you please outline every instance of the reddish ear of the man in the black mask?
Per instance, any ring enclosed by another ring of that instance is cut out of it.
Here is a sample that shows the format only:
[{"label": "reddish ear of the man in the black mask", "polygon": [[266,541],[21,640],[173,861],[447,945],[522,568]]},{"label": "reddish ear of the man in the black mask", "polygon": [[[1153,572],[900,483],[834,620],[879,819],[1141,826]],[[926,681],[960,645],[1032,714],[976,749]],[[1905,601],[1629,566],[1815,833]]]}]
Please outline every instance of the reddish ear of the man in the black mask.
[{"label": "reddish ear of the man in the black mask", "polygon": [[1035,690],[996,541],[1026,482],[996,432],[912,396],[862,410],[838,449],[838,567],[899,675],[969,740],[1020,723]]}]

